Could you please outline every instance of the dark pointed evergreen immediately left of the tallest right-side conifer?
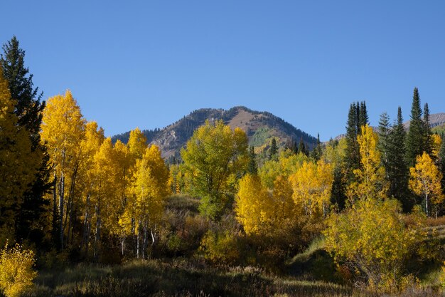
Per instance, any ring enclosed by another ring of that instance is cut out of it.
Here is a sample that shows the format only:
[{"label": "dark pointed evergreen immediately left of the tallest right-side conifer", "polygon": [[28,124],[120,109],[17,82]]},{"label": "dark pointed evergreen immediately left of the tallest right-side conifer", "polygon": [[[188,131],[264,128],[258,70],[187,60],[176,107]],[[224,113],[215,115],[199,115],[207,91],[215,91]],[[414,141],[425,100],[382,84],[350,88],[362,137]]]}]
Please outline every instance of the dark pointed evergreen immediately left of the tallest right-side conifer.
[{"label": "dark pointed evergreen immediately left of the tallest right-side conifer", "polygon": [[403,127],[402,108],[397,110],[397,121],[387,137],[387,163],[385,166],[390,182],[388,194],[402,202],[405,212],[409,212],[414,200],[408,191],[408,168],[404,162],[406,132]]}]

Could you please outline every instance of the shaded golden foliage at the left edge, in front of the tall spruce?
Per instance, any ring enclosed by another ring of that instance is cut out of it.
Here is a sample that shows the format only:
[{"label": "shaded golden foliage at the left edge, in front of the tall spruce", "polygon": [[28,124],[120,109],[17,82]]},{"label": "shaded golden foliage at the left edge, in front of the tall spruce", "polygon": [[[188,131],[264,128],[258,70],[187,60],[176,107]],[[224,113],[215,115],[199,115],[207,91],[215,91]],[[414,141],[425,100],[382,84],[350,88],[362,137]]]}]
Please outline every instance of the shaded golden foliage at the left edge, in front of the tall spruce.
[{"label": "shaded golden foliage at the left edge, in front of the tall spruce", "polygon": [[0,69],[0,244],[13,239],[16,210],[33,181],[39,158],[31,153],[31,140],[17,125],[15,101]]}]

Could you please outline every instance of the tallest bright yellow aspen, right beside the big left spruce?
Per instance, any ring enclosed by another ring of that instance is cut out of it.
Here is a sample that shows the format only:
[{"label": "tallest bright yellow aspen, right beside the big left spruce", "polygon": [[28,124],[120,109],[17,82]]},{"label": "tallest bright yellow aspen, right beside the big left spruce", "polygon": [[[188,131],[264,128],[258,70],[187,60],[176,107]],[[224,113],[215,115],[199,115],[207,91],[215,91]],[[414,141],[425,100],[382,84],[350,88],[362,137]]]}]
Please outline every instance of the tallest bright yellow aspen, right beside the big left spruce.
[{"label": "tallest bright yellow aspen, right beside the big left spruce", "polygon": [[64,246],[64,233],[68,226],[70,207],[73,207],[84,129],[85,120],[69,90],[65,95],[55,95],[48,99],[43,110],[41,138],[48,147],[53,168],[53,231],[58,234],[58,240],[55,241],[60,248]]}]

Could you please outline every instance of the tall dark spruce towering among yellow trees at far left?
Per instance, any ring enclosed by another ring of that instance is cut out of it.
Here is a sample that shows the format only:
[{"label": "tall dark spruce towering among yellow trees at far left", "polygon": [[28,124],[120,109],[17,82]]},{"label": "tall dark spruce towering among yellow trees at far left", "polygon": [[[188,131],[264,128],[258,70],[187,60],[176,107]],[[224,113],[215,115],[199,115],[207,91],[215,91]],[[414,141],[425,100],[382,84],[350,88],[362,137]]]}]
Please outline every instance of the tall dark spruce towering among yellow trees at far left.
[{"label": "tall dark spruce towering among yellow trees at far left", "polygon": [[35,179],[30,184],[30,189],[23,195],[23,204],[18,210],[16,221],[16,239],[30,239],[38,242],[43,238],[41,226],[38,226],[40,218],[45,212],[47,202],[43,194],[50,189],[49,157],[46,148],[41,144],[40,130],[42,123],[42,111],[45,101],[41,101],[43,93],[33,87],[33,75],[25,67],[25,51],[19,47],[16,36],[11,38],[3,46],[4,53],[0,63],[4,77],[8,82],[11,98],[16,100],[14,113],[18,118],[18,125],[25,127],[31,139],[31,150],[34,158],[41,164]]}]

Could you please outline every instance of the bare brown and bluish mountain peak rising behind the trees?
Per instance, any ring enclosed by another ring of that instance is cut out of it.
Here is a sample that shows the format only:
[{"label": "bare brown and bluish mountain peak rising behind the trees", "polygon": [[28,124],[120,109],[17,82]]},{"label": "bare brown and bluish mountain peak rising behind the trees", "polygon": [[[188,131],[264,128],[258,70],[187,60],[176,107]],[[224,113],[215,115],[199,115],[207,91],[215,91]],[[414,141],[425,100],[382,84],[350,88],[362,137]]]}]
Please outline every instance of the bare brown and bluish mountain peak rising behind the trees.
[{"label": "bare brown and bluish mountain peak rising behind the trees", "polygon": [[[224,120],[232,129],[240,127],[249,137],[250,145],[263,150],[269,147],[272,137],[276,137],[277,142],[282,146],[288,141],[299,142],[300,139],[303,139],[309,147],[316,143],[315,137],[297,129],[282,118],[278,118],[272,113],[250,110],[244,106],[237,106],[230,110],[214,108],[195,110],[163,129],[144,130],[143,132],[147,137],[147,142],[161,148],[163,157],[178,158],[181,147],[186,145],[196,128],[203,125],[205,120],[220,119]],[[113,142],[121,140],[127,143],[128,139],[129,132],[112,137]]]}]

